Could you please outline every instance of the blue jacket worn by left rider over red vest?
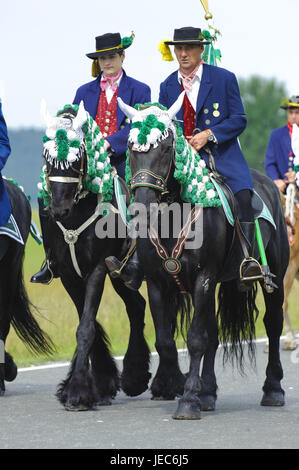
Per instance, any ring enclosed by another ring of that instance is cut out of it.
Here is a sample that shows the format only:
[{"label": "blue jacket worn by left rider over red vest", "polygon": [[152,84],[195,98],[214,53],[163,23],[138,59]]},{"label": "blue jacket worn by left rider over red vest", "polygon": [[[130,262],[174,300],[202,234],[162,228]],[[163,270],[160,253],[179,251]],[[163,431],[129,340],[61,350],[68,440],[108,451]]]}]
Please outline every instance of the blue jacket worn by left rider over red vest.
[{"label": "blue jacket worn by left rider over red vest", "polygon": [[[93,119],[96,117],[101,94],[100,81],[101,74],[96,80],[82,85],[78,88],[73,101],[73,104],[80,104],[80,101],[83,100],[86,111],[89,112]],[[151,90],[145,83],[128,77],[124,71],[119,84],[118,97],[120,97],[124,103],[134,106],[138,103],[143,104],[150,102]],[[127,142],[131,124],[126,122],[126,116],[119,106],[117,106],[117,128],[118,131],[110,137],[107,137],[106,140],[110,143],[113,151],[111,164],[116,166],[120,176],[124,177]]]}]

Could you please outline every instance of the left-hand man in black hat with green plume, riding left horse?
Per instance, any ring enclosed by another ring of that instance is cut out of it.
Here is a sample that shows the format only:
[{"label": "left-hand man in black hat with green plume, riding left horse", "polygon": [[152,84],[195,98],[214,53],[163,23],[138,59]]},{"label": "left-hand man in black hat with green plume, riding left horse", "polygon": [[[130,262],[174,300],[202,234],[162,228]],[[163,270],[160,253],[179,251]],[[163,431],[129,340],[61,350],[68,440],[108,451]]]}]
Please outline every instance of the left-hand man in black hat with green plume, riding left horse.
[{"label": "left-hand man in black hat with green plume, riding left horse", "polygon": [[[126,150],[131,124],[118,107],[117,97],[134,106],[151,101],[151,90],[145,83],[128,77],[122,68],[125,49],[133,42],[130,37],[121,38],[119,33],[107,33],[96,37],[96,51],[86,54],[93,60],[92,75],[95,80],[78,88],[73,104],[83,100],[84,108],[95,119],[110,152],[110,162],[119,176],[125,178]],[[47,234],[48,214],[40,207],[42,233]],[[44,248],[46,237],[44,237]],[[47,256],[47,255],[46,255]],[[131,261],[131,260],[130,260]],[[128,263],[130,269],[130,262]],[[51,259],[44,262],[41,270],[31,278],[33,283],[49,284],[56,277],[55,263]]]}]

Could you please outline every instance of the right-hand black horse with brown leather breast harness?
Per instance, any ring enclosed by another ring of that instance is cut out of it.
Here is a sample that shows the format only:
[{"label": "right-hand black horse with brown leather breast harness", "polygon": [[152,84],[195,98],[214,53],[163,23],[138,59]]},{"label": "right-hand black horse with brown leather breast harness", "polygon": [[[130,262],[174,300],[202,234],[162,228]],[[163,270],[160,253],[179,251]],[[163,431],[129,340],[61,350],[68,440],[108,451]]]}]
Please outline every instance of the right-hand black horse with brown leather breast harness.
[{"label": "right-hand black horse with brown leather breast harness", "polygon": [[[131,184],[135,202],[146,207],[148,218],[152,203],[176,202],[182,208],[182,188],[174,176],[177,169],[176,130],[172,119],[178,111],[175,109],[178,105],[174,104],[174,109],[169,110],[167,116],[167,111],[159,112],[157,106],[136,111],[121,100],[119,104],[132,120],[132,131],[129,135],[131,181],[128,181],[128,184]],[[153,125],[154,132],[151,131]],[[266,291],[261,282],[266,305],[264,324],[269,338],[269,360],[261,404],[281,406],[284,404],[284,391],[280,385],[283,371],[279,356],[279,338],[283,326],[283,278],[288,265],[288,240],[277,188],[272,181],[256,171],[252,171],[252,176],[254,187],[268,206],[276,224],[275,230],[268,221],[260,221],[268,264],[271,272],[277,276],[277,288],[272,294]],[[244,359],[243,340],[248,343],[250,360],[254,360],[257,287],[255,284],[249,292],[241,292],[236,276],[225,277],[223,269],[227,266],[234,231],[222,207],[203,209],[202,245],[197,249],[183,249],[179,258],[175,256],[175,251],[172,251],[178,241],[177,236],[170,232],[170,235],[164,235],[164,238],[163,235],[159,237],[160,229],[161,226],[158,225],[158,235],[153,236],[150,230],[151,236],[137,239],[137,253],[145,271],[156,329],[156,349],[160,356],[151,392],[156,399],[174,399],[175,396],[181,395],[173,417],[199,419],[201,410],[215,409],[217,383],[214,360],[219,339],[225,346],[225,358],[237,360],[241,368]],[[215,290],[219,282],[220,333],[215,312]],[[182,295],[181,291],[184,289],[187,295]],[[193,316],[190,310],[191,300]],[[181,320],[184,317],[187,320],[190,369],[186,377],[180,371],[174,341],[178,312],[181,312]]]}]

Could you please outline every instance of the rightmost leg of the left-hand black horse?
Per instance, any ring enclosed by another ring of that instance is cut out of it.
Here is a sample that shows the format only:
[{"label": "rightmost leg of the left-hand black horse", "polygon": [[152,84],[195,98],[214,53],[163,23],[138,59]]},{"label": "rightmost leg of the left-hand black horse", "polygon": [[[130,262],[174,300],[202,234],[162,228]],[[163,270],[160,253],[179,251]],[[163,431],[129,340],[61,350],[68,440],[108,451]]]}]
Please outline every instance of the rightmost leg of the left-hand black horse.
[{"label": "rightmost leg of the left-hand black horse", "polygon": [[131,397],[140,395],[148,388],[150,350],[144,338],[144,315],[146,302],[137,291],[128,289],[118,279],[111,279],[113,287],[126,305],[130,322],[128,349],[123,360],[121,388]]}]

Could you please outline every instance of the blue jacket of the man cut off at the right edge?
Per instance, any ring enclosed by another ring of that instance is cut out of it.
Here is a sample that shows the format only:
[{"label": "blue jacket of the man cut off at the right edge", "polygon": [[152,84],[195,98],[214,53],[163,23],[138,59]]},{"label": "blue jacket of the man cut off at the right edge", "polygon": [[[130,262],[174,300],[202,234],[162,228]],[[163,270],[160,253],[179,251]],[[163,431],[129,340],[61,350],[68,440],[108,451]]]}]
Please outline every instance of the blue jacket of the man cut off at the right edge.
[{"label": "blue jacket of the man cut off at the right edge", "polygon": [[[289,170],[289,155],[292,153],[288,126],[274,129],[270,134],[265,157],[265,171],[272,180],[284,179]],[[290,165],[293,168],[293,165]]]}]

